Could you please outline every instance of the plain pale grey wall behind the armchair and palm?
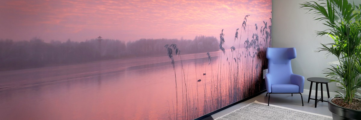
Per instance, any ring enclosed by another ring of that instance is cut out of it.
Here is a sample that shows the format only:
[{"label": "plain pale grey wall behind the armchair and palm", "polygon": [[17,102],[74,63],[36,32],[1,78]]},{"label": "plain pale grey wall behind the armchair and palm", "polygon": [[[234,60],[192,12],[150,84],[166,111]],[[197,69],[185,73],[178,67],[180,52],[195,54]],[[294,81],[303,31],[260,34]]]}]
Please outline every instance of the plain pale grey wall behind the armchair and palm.
[{"label": "plain pale grey wall behind the armchair and palm", "polygon": [[[328,62],[337,58],[325,58],[326,52],[315,53],[320,43],[331,43],[330,37],[319,37],[315,31],[325,30],[322,22],[313,20],[312,14],[305,14],[308,10],[300,9],[301,3],[310,0],[273,0],[272,1],[272,47],[295,47],[297,57],[292,60],[293,73],[305,77],[304,89],[309,90],[308,77],[325,77],[322,70],[329,67]],[[355,0],[361,4],[361,1]],[[313,90],[315,86],[313,85]],[[330,92],[334,92],[335,83],[329,83]],[[324,87],[324,91],[325,91]],[[307,93],[308,94],[308,93]]]}]

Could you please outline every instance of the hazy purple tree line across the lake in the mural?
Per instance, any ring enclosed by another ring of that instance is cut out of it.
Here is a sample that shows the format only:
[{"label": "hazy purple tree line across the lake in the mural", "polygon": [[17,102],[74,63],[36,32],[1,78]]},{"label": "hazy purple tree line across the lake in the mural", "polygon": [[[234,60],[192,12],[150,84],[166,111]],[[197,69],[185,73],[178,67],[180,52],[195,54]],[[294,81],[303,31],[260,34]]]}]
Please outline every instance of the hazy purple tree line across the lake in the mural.
[{"label": "hazy purple tree line across the lake in the mural", "polygon": [[30,41],[0,39],[0,71],[66,65],[110,59],[161,56],[165,44],[179,45],[183,54],[218,50],[216,37],[196,36],[194,40],[140,39],[125,43],[121,40],[96,39],[44,42],[39,38]]}]

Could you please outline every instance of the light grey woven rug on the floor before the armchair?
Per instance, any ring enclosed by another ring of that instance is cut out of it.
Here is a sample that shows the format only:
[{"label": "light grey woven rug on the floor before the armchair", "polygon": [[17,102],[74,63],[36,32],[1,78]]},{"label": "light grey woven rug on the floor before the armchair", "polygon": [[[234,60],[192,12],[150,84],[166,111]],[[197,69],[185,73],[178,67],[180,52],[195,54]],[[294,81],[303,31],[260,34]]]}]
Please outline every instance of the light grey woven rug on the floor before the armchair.
[{"label": "light grey woven rug on the floor before the armchair", "polygon": [[255,101],[215,120],[332,120],[332,117]]}]

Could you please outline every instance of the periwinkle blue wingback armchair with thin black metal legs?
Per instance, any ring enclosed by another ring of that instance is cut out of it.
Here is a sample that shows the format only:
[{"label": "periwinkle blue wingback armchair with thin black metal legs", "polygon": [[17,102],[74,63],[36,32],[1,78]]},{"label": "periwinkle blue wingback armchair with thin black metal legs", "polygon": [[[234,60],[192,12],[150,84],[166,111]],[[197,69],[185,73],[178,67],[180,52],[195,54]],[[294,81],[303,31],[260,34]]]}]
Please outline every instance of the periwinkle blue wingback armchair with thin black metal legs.
[{"label": "periwinkle blue wingback armchair with thin black metal legs", "polygon": [[301,95],[303,106],[303,86],[305,77],[293,74],[291,68],[291,59],[296,58],[295,48],[267,48],[266,57],[268,59],[268,74],[266,74],[266,96],[268,96],[268,105],[271,94],[293,93]]}]

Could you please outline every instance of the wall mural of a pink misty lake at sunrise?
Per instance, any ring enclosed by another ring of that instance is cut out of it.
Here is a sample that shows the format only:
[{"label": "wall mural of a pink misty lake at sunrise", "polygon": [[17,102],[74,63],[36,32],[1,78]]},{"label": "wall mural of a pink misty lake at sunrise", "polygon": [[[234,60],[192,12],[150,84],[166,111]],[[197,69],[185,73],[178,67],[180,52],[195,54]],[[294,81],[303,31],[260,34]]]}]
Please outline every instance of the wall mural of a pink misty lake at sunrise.
[{"label": "wall mural of a pink misty lake at sunrise", "polygon": [[189,120],[265,90],[271,0],[0,1],[1,120]]}]

